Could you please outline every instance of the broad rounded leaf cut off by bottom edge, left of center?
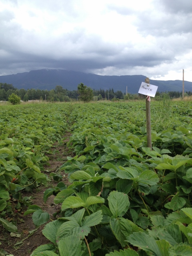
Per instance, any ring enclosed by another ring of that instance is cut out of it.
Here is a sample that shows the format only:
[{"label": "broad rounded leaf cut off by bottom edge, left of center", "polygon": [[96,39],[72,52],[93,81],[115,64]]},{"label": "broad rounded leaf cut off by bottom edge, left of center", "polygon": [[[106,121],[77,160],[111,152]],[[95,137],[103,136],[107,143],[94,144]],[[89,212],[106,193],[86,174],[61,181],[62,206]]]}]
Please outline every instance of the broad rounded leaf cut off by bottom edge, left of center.
[{"label": "broad rounded leaf cut off by bottom edge, left of center", "polygon": [[59,253],[62,256],[81,256],[81,243],[76,236],[68,236],[59,241]]}]

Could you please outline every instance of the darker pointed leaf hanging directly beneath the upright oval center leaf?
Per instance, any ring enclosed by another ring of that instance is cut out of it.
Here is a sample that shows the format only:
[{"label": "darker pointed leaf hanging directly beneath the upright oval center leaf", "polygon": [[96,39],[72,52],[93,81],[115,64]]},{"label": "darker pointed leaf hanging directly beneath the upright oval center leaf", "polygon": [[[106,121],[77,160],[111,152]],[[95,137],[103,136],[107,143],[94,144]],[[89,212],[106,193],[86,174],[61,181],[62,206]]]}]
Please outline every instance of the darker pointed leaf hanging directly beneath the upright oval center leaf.
[{"label": "darker pointed leaf hanging directly beneath the upright oval center leaf", "polygon": [[116,239],[120,242],[122,247],[125,247],[127,244],[127,242],[125,242],[126,238],[132,233],[130,222],[122,217],[118,219],[111,217],[110,227]]}]

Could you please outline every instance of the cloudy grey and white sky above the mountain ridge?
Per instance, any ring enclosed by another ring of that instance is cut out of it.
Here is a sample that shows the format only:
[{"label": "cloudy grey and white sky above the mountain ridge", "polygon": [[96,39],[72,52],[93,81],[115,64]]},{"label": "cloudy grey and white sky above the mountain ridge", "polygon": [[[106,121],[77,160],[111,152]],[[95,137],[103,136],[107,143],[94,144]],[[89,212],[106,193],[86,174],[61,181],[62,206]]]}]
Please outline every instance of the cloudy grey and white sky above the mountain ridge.
[{"label": "cloudy grey and white sky above the mountain ridge", "polygon": [[192,0],[0,0],[0,75],[43,68],[192,82]]}]

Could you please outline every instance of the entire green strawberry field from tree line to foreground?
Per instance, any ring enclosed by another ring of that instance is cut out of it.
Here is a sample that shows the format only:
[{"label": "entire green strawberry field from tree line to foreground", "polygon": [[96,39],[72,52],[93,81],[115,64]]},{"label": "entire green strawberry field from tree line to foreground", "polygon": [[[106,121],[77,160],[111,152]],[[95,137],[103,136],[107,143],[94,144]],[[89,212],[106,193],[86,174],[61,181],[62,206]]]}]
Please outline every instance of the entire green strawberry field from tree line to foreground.
[{"label": "entire green strawberry field from tree line to foreground", "polygon": [[192,255],[191,102],[151,102],[152,151],[145,101],[0,107],[0,255]]}]

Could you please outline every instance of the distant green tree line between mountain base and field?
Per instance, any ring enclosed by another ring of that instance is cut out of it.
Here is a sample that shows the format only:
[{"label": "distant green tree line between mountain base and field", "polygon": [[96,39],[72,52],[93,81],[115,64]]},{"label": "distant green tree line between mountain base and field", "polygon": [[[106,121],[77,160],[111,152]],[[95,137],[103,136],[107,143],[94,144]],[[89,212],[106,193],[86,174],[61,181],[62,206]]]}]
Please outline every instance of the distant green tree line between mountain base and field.
[{"label": "distant green tree line between mountain base and field", "polygon": [[[122,93],[120,90],[114,92],[113,88],[109,90],[92,90],[92,100],[137,100],[145,98],[142,94],[130,94]],[[40,89],[17,89],[14,88],[12,84],[0,83],[0,101],[7,101],[9,96],[14,93],[20,96],[21,100],[28,101],[28,100],[47,100],[47,101],[61,101],[61,102],[68,102],[71,100],[79,100],[80,93],[78,90],[69,91],[64,89],[62,86],[57,85],[55,89],[50,91],[48,90],[40,90]],[[159,100],[162,94],[166,92],[157,92],[155,99]],[[182,96],[182,92],[169,92],[170,98],[180,98]],[[191,96],[192,92],[185,92],[185,96]]]}]

